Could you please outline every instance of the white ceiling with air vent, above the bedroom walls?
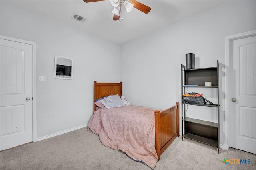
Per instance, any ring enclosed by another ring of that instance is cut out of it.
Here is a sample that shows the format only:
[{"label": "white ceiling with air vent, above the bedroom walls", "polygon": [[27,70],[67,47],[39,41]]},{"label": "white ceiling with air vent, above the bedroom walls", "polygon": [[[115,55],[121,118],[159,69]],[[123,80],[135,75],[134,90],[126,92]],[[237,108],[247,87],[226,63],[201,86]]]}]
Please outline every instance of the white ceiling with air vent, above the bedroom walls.
[{"label": "white ceiling with air vent, above the bedroom walls", "polygon": [[[2,0],[1,0],[2,1]],[[83,0],[8,0],[38,14],[89,31],[116,43],[124,43],[164,25],[218,6],[224,0],[138,0],[152,9],[148,14],[133,8],[123,12],[124,20],[113,21],[110,0],[85,3]],[[73,14],[88,18],[84,23]]]}]

